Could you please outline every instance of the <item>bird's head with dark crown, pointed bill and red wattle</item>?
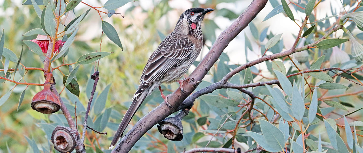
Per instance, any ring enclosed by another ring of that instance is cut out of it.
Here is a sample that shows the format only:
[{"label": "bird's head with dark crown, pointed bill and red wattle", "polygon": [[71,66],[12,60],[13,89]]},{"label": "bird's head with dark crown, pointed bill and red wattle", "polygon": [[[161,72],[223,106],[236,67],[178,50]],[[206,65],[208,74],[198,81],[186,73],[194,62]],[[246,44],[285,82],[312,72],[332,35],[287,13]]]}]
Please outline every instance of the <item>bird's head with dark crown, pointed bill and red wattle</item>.
[{"label": "bird's head with dark crown, pointed bill and red wattle", "polygon": [[191,8],[184,11],[175,26],[175,31],[189,33],[192,30],[200,29],[201,22],[204,15],[208,12],[214,11],[211,8]]}]

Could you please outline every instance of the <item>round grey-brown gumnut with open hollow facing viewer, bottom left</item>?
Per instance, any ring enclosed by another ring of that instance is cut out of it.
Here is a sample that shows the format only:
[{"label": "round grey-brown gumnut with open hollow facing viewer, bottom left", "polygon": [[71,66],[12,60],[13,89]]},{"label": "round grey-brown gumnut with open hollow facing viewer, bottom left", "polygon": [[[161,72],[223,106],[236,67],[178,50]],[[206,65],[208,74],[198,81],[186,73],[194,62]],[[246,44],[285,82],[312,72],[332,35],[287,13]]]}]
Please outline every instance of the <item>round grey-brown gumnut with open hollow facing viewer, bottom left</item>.
[{"label": "round grey-brown gumnut with open hollow facing viewer, bottom left", "polygon": [[72,152],[76,148],[79,134],[69,127],[57,126],[52,133],[54,149],[61,153]]}]

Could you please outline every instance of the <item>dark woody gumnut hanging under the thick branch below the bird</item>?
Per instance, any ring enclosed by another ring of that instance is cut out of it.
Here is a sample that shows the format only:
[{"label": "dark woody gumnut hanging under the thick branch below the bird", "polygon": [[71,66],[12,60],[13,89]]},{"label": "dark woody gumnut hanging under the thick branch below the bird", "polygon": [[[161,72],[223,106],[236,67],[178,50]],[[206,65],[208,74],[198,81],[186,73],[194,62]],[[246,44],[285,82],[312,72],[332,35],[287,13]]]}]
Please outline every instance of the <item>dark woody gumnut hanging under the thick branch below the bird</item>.
[{"label": "dark woody gumnut hanging under the thick branch below the bird", "polygon": [[183,139],[183,125],[181,124],[181,119],[188,115],[189,109],[182,109],[174,117],[169,117],[157,125],[158,130],[165,138],[172,141],[181,141]]}]

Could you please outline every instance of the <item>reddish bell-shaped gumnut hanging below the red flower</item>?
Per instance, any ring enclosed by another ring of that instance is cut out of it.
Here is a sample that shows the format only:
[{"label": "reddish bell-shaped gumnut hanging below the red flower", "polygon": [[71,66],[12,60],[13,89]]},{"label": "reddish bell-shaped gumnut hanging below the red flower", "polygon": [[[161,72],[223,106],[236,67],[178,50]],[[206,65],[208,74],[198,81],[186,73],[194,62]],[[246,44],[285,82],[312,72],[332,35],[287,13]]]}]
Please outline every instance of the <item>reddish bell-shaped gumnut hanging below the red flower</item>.
[{"label": "reddish bell-shaped gumnut hanging below the red flower", "polygon": [[50,91],[50,83],[44,83],[44,89],[34,95],[32,100],[32,108],[44,114],[58,112],[60,109],[60,101],[56,94]]}]

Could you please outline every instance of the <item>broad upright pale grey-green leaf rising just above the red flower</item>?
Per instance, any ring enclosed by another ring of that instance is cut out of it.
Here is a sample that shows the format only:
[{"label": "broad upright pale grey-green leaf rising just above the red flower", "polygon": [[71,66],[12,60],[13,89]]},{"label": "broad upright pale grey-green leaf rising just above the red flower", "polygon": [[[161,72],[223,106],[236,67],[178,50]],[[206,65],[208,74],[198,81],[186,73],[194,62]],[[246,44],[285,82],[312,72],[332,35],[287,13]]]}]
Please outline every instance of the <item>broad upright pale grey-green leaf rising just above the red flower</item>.
[{"label": "broad upright pale grey-green leaf rising just above the red flower", "polygon": [[56,21],[54,21],[54,14],[52,11],[51,4],[48,3],[47,7],[45,8],[44,14],[44,27],[46,32],[51,36],[56,35]]}]

